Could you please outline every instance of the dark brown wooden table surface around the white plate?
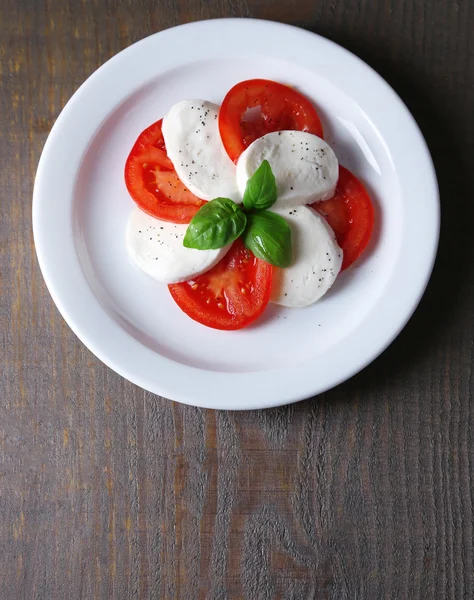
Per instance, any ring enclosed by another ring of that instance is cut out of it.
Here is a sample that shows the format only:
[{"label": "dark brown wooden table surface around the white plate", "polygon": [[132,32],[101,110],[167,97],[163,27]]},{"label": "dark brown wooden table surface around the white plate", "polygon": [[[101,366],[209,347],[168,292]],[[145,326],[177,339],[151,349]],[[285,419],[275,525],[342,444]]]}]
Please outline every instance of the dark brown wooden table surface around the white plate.
[{"label": "dark brown wooden table surface around the white plate", "polygon": [[[300,25],[375,67],[427,137],[443,211],[391,348],[252,413],[174,404],[102,365],[53,305],[31,232],[75,89],[143,36],[224,16]],[[1,600],[474,597],[473,33],[469,0],[0,0]]]}]

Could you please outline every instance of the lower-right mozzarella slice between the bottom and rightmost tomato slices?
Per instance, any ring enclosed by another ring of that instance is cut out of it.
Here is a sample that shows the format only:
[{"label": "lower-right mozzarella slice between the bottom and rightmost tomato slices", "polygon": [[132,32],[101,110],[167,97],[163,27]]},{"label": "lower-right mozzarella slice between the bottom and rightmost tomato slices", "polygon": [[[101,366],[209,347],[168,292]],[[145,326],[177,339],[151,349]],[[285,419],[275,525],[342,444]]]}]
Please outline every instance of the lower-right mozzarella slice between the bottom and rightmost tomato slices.
[{"label": "lower-right mozzarella slice between the bottom and rightmost tomato slices", "polygon": [[291,229],[293,262],[274,276],[271,301],[290,307],[313,304],[329,290],[341,270],[342,250],[333,230],[308,206],[275,211]]}]

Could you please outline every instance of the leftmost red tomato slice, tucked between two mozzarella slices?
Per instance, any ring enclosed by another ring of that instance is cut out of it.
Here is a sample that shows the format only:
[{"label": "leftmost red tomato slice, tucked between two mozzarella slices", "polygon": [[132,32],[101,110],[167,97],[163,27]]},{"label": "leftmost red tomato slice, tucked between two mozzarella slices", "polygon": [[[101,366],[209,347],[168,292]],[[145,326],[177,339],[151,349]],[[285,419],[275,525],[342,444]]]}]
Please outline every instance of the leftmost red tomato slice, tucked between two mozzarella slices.
[{"label": "leftmost red tomato slice, tucked between two mozzarella slices", "polygon": [[189,223],[204,200],[181,183],[166,154],[162,119],[138,136],[125,163],[130,196],[146,213],[172,223]]}]

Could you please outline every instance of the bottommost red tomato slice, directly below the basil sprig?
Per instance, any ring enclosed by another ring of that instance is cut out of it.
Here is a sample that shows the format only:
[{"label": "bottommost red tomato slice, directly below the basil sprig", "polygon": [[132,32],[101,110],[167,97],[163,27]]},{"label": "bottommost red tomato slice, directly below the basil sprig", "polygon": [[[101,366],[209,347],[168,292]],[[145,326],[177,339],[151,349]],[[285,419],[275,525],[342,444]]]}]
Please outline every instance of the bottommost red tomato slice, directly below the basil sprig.
[{"label": "bottommost red tomato slice, directly below the basil sprig", "polygon": [[270,264],[236,240],[207,273],[168,287],[176,304],[191,319],[214,329],[241,329],[267,306],[272,273]]}]

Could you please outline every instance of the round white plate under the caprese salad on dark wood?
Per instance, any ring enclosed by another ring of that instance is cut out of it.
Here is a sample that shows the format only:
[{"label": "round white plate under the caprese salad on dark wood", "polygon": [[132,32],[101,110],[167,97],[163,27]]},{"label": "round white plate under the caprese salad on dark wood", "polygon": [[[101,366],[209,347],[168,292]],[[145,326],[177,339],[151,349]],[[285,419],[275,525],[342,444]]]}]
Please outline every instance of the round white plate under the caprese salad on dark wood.
[{"label": "round white plate under the caprese salad on dark wood", "polygon": [[[320,302],[269,306],[257,325],[221,332],[189,319],[165,285],[129,262],[124,232],[133,202],[123,168],[140,131],[174,102],[220,102],[252,77],[294,85],[315,102],[327,140],[374,199],[377,228],[363,260]],[[439,200],[415,121],[370,67],[295,27],[225,19],[146,38],[81,86],[46,142],[33,226],[53,300],[98,358],[173,400],[251,409],[319,394],[392,342],[431,273]]]}]

